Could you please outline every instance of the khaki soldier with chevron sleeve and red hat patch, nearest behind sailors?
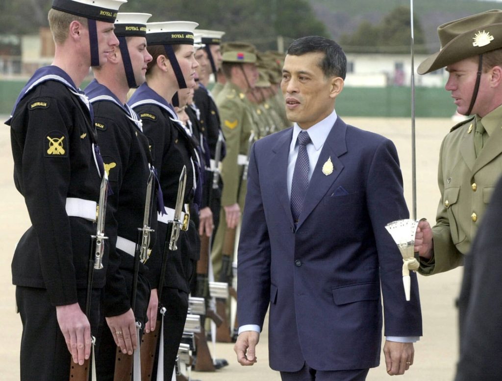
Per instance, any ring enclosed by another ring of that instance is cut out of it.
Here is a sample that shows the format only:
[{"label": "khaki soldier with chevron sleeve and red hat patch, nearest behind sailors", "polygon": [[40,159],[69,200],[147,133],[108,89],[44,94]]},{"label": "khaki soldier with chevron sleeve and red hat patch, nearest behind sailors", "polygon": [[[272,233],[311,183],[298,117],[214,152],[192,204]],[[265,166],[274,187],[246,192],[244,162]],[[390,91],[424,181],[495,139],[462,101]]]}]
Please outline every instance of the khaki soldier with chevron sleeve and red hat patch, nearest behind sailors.
[{"label": "khaki soldier with chevron sleeve and red hat patch, nearest behind sailors", "polygon": [[255,86],[258,79],[256,60],[254,46],[244,43],[226,44],[222,70],[227,82],[216,97],[226,141],[226,156],[221,162],[221,179],[224,186],[221,194],[220,223],[211,252],[216,280],[220,279],[225,231],[227,228],[237,227],[244,206],[246,184],[242,181],[242,164],[248,153],[249,137],[255,128],[246,93]]}]

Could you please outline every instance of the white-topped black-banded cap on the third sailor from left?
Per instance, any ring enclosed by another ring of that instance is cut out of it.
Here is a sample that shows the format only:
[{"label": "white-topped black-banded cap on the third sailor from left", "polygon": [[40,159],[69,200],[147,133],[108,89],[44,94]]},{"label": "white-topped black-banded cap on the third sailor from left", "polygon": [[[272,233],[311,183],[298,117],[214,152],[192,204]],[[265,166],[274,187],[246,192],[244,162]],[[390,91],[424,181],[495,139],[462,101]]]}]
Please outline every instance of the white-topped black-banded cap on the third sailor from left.
[{"label": "white-topped black-banded cap on the third sailor from left", "polygon": [[167,21],[147,24],[148,45],[193,45],[194,30],[199,24],[192,21]]}]

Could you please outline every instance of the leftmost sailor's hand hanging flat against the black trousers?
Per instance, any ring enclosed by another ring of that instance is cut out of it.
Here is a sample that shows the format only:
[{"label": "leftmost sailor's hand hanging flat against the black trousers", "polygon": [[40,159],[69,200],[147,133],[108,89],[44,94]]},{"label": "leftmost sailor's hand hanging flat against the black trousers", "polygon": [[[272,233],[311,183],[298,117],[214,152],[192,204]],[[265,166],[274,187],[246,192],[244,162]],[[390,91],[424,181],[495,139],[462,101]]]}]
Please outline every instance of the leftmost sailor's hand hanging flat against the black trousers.
[{"label": "leftmost sailor's hand hanging flat against the black trousers", "polygon": [[89,320],[78,303],[56,306],[56,316],[73,362],[83,365],[91,354]]}]

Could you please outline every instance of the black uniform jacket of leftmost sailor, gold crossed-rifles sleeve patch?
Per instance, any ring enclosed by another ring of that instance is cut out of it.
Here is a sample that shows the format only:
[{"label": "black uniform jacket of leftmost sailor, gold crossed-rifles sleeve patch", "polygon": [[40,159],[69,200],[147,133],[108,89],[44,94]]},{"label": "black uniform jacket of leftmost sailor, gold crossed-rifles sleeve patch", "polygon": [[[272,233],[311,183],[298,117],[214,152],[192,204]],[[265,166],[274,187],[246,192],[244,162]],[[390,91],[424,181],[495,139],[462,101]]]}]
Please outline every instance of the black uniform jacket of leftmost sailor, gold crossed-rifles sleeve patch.
[{"label": "black uniform jacket of leftmost sailor, gold crossed-rifles sleeve patch", "polygon": [[[77,302],[77,287],[86,287],[96,233],[91,220],[66,212],[68,197],[99,200],[96,132],[85,103],[71,78],[50,66],[35,73],[7,122],[14,181],[32,222],[14,254],[13,283],[46,288],[54,305]],[[93,287],[104,280],[105,270],[95,270]]]}]

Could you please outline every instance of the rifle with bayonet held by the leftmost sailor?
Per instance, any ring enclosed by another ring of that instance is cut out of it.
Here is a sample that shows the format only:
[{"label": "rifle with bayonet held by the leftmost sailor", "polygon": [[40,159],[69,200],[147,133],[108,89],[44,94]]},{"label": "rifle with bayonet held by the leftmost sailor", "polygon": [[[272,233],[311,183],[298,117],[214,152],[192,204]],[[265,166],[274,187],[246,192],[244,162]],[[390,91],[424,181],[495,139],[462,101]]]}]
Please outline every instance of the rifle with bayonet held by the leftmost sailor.
[{"label": "rifle with bayonet held by the leftmost sailor", "polygon": [[[106,199],[108,197],[108,175],[103,171],[103,178],[99,187],[99,203],[97,209],[97,226],[96,235],[91,235],[91,250],[89,262],[87,265],[87,290],[85,297],[85,316],[89,318],[91,310],[91,292],[92,292],[92,277],[94,269],[101,270],[103,268],[104,241],[108,239],[104,235],[104,217],[106,214]],[[96,369],[94,361],[94,343],[96,339],[92,336],[91,355],[84,360],[82,365],[76,364],[70,360],[70,380],[71,381],[88,381],[89,379],[89,362],[92,357],[92,373],[91,379],[96,379]]]}]

